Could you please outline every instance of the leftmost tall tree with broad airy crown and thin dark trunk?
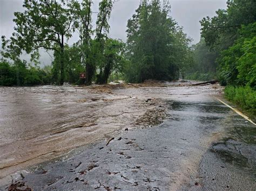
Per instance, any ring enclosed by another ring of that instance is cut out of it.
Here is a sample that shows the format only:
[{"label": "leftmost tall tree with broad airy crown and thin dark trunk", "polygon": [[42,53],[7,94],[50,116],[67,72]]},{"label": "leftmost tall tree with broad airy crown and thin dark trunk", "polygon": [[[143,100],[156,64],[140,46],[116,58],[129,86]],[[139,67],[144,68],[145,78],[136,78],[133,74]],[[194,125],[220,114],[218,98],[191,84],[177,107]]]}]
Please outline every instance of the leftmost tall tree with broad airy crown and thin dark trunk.
[{"label": "leftmost tall tree with broad airy crown and thin dark trunk", "polygon": [[22,51],[31,53],[31,59],[39,57],[38,49],[53,50],[59,54],[60,80],[64,83],[65,40],[72,36],[77,27],[70,4],[64,0],[25,0],[24,12],[15,12],[15,32],[10,40],[2,37],[3,48],[8,49],[5,56],[15,60]]}]

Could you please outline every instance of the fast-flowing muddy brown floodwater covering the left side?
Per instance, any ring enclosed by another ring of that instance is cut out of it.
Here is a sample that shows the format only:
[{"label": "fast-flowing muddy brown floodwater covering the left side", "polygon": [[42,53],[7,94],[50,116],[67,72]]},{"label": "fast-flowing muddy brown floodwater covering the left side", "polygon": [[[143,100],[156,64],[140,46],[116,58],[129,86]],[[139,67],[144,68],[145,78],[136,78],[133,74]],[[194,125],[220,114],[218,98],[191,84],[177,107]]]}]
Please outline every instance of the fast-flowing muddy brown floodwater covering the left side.
[{"label": "fast-flowing muddy brown floodwater covering the left side", "polygon": [[[72,86],[0,87],[0,178],[132,128],[139,116],[163,100],[215,91],[167,86],[108,94]],[[147,98],[157,104],[145,102]]]}]

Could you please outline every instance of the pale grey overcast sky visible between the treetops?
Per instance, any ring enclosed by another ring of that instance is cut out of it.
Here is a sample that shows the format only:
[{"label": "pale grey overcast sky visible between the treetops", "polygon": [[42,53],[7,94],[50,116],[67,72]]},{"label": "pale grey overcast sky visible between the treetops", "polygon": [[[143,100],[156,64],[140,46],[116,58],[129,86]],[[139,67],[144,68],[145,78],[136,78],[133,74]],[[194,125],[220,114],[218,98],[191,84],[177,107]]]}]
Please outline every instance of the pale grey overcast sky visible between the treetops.
[{"label": "pale grey overcast sky visible between the treetops", "polygon": [[[94,0],[93,9],[97,11],[99,0]],[[118,0],[114,4],[111,18],[109,20],[111,30],[110,37],[126,40],[126,24],[135,10],[138,8],[140,0]],[[200,23],[203,17],[214,16],[218,9],[226,9],[226,0],[170,0],[171,16],[184,27],[185,33],[193,39],[192,44],[200,40]],[[23,0],[0,0],[0,36],[10,37],[14,31],[14,12],[23,11]],[[96,15],[93,16],[96,19]],[[77,41],[75,34],[69,44]],[[48,62],[48,61],[44,61]]]}]

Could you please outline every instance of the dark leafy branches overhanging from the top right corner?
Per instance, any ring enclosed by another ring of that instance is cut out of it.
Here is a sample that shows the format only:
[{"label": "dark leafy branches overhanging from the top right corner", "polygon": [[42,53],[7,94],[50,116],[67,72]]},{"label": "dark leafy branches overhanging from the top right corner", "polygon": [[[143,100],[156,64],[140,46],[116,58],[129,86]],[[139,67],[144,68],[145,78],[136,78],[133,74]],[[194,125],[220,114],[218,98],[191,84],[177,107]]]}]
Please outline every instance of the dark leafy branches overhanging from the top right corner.
[{"label": "dark leafy branches overhanging from the top right corner", "polygon": [[228,0],[227,10],[216,11],[217,16],[200,21],[201,36],[206,44],[217,49],[226,49],[238,38],[238,29],[256,21],[256,1]]}]

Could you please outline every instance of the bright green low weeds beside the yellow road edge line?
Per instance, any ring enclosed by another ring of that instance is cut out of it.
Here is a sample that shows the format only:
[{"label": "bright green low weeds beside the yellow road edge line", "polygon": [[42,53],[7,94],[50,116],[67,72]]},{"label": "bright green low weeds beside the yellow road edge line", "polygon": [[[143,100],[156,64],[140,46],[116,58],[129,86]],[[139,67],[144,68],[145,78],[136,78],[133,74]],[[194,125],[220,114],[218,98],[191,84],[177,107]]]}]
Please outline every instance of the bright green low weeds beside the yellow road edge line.
[{"label": "bright green low weeds beside the yellow road edge line", "polygon": [[227,86],[225,88],[225,97],[240,105],[243,109],[256,114],[256,91],[250,86],[234,87]]}]

